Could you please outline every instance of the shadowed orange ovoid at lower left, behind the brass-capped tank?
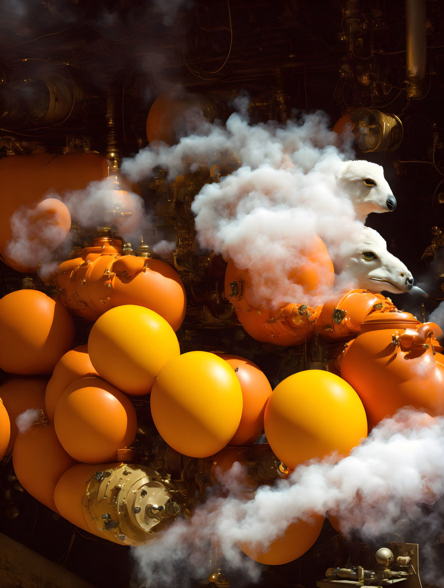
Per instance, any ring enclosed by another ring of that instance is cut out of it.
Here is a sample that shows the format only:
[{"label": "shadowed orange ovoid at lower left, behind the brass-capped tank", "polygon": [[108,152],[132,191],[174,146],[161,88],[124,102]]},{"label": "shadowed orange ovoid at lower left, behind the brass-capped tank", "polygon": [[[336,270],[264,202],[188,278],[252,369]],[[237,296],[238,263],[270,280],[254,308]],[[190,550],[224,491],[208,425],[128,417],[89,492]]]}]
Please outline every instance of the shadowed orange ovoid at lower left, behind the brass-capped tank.
[{"label": "shadowed orange ovoid at lower left, behind the brass-capped tank", "polygon": [[56,510],[54,489],[60,477],[76,462],[60,445],[52,425],[32,425],[19,433],[12,452],[19,482],[31,496]]}]

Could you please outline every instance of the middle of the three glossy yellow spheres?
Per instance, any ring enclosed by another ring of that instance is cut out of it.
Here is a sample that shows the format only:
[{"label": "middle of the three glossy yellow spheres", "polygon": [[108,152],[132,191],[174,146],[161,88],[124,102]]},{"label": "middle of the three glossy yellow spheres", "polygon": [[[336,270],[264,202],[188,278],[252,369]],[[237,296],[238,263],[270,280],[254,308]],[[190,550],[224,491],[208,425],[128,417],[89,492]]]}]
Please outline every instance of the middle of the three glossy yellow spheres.
[{"label": "middle of the three glossy yellow spheres", "polygon": [[242,415],[233,368],[205,351],[184,353],[159,372],[151,393],[154,425],[179,453],[208,457],[227,445]]}]

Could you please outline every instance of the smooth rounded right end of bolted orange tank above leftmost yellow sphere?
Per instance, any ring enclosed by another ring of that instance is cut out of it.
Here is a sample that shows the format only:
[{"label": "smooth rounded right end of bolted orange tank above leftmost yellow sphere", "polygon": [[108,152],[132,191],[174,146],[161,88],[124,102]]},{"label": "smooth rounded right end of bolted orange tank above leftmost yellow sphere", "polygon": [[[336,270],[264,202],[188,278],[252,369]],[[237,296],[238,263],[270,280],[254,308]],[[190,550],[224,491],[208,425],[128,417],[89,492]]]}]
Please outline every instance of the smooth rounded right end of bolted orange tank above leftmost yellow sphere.
[{"label": "smooth rounded right end of bolted orange tank above leftmost yellow sphere", "polygon": [[160,259],[125,255],[113,263],[112,306],[134,304],[154,310],[173,328],[185,317],[187,299],[179,274]]}]

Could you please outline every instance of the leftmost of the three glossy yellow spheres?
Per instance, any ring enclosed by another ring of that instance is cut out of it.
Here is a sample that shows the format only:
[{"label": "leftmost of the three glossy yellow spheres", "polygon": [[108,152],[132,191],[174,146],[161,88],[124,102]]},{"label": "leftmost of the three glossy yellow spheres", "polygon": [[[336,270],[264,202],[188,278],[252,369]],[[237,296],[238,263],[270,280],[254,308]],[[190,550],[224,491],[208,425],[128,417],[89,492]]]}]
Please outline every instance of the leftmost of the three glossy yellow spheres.
[{"label": "leftmost of the three glossy yellow spheres", "polygon": [[176,333],[162,316],[143,306],[125,305],[96,320],[88,352],[100,377],[127,394],[143,396],[180,349]]}]

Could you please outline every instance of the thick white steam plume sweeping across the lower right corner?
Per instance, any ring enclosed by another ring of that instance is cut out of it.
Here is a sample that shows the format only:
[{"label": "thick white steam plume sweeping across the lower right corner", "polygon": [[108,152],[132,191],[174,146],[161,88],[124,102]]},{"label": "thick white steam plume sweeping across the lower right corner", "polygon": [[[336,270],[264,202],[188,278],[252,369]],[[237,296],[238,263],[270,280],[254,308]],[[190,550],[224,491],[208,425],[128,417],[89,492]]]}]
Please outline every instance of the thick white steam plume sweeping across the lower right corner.
[{"label": "thick white steam plume sweeping across the lower right corner", "polygon": [[[403,409],[338,463],[333,456],[301,465],[274,487],[261,486],[250,500],[251,494],[242,492],[239,464],[220,484],[222,492],[213,491],[191,520],[176,521],[155,541],[134,549],[147,586],[170,584],[174,576],[199,577],[214,543],[227,572],[248,570],[255,579],[259,566],[246,560],[236,544],[266,548],[291,523],[310,520],[314,513],[332,513],[345,533],[354,530],[365,540],[399,532],[406,519],[416,539],[405,540],[421,540],[421,529],[428,542],[436,539],[441,524],[430,505],[444,498],[444,418]],[[428,573],[426,580],[444,585],[440,576],[430,577],[430,567]]]}]

